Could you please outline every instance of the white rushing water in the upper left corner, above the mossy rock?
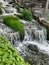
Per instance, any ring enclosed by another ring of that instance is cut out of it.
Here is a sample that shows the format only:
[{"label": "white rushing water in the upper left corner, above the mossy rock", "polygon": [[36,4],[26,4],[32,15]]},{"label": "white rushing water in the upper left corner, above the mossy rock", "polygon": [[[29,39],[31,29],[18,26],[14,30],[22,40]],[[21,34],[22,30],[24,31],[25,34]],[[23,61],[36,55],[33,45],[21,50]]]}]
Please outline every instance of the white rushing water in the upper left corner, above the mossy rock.
[{"label": "white rushing water in the upper left corner, above the mossy rock", "polygon": [[3,10],[2,15],[3,16],[4,15],[14,15],[14,14],[17,14],[17,9],[12,7],[12,5],[9,4],[7,1],[0,0],[0,2],[2,3],[2,10]]}]

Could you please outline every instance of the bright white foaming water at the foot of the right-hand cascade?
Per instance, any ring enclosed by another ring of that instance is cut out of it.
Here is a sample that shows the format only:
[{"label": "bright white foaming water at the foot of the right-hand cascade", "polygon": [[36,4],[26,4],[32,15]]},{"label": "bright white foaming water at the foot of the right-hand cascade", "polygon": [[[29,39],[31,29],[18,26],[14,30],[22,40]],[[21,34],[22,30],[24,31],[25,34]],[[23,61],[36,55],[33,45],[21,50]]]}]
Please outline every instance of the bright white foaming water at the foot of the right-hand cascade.
[{"label": "bright white foaming water at the foot of the right-hand cascade", "polygon": [[47,43],[47,41],[44,41],[43,44],[37,41],[28,41],[28,43],[36,45],[40,51],[49,55],[49,44]]}]

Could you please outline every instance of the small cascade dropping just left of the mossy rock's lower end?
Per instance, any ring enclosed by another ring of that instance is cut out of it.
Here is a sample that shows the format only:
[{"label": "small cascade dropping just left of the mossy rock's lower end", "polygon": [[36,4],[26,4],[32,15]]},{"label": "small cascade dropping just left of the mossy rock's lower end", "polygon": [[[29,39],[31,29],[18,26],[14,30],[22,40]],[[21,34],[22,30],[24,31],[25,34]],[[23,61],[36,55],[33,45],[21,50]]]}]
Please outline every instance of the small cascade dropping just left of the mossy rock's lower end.
[{"label": "small cascade dropping just left of the mossy rock's lower end", "polygon": [[11,33],[10,37],[11,43],[13,43],[13,45],[17,47],[18,41],[20,41],[19,33],[18,32]]}]

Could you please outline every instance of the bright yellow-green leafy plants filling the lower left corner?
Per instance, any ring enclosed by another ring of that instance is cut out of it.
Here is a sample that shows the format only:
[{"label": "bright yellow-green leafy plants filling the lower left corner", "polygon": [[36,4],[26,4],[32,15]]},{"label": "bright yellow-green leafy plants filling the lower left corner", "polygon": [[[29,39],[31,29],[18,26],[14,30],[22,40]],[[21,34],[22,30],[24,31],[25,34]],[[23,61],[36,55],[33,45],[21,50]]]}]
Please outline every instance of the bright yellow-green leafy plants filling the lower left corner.
[{"label": "bright yellow-green leafy plants filling the lower left corner", "polygon": [[25,63],[17,50],[4,36],[0,35],[0,65],[30,65]]}]

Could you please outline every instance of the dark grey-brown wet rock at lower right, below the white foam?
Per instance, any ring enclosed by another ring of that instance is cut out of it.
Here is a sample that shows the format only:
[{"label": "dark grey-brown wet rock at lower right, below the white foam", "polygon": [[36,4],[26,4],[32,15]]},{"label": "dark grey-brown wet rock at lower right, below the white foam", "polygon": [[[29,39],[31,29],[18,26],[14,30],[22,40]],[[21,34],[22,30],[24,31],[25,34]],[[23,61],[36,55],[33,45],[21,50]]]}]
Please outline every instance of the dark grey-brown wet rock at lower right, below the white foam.
[{"label": "dark grey-brown wet rock at lower right, below the white foam", "polygon": [[29,45],[27,52],[23,58],[31,65],[49,65],[49,56],[39,52],[35,45]]}]

